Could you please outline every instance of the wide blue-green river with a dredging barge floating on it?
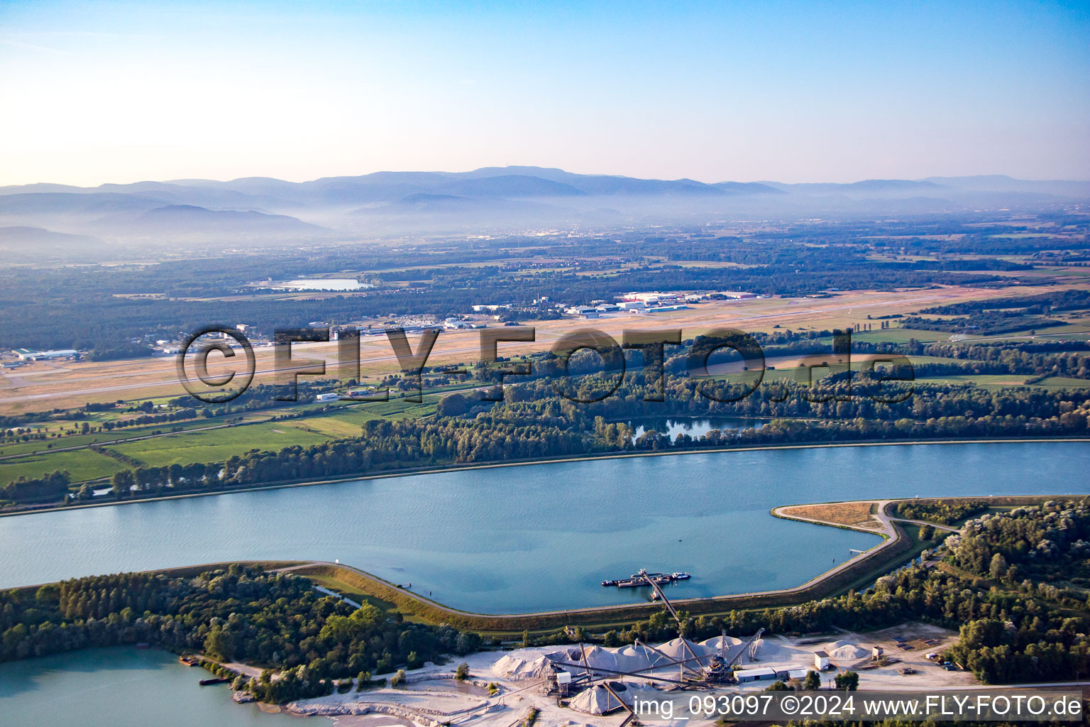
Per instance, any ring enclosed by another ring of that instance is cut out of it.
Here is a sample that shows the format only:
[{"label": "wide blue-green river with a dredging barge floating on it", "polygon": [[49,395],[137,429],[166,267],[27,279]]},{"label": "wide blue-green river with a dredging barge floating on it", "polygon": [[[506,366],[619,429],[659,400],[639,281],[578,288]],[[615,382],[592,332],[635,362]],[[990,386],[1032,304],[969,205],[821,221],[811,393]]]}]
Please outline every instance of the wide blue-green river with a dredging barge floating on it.
[{"label": "wide blue-green river with a dredging barge floating on it", "polygon": [[230,559],[339,559],[482,613],[798,585],[875,535],[780,520],[862,497],[1090,493],[1090,443],[735,451],[470,470],[0,518],[0,587]]}]

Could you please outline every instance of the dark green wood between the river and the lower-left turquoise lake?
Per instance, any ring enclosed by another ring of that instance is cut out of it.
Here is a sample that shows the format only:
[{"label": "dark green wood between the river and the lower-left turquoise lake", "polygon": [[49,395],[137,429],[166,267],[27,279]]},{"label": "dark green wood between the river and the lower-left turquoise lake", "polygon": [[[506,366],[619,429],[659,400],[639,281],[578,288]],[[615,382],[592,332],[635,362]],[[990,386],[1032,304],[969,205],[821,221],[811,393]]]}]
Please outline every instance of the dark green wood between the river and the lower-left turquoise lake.
[{"label": "dark green wood between the river and the lower-left turquoise lake", "polygon": [[302,577],[243,566],[196,577],[98,575],[0,593],[0,661],[136,643],[282,670],[281,679],[247,686],[280,703],[328,693],[335,678],[467,654],[481,639],[373,605],[356,609]]}]

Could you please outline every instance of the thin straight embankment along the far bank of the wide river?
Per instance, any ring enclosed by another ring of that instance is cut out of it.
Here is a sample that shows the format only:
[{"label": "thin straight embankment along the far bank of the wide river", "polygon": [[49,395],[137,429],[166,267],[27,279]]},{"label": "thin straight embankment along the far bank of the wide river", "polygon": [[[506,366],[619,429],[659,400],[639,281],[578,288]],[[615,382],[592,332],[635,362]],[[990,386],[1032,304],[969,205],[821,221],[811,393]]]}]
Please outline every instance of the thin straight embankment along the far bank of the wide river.
[{"label": "thin straight embankment along the far bank of the wide river", "polygon": [[492,470],[498,468],[529,467],[535,464],[562,464],[568,462],[591,462],[596,460],[630,459],[637,457],[670,457],[681,455],[713,455],[724,452],[752,452],[770,450],[797,450],[797,449],[828,449],[839,447],[907,447],[917,445],[998,445],[998,444],[1029,444],[1042,443],[1090,443],[1087,437],[1012,437],[998,439],[922,439],[922,440],[894,440],[894,441],[829,441],[816,444],[798,445],[760,445],[753,447],[716,447],[708,449],[683,449],[680,451],[650,451],[650,452],[614,452],[603,455],[583,455],[579,457],[557,457],[549,459],[519,460],[512,462],[487,462],[482,464],[455,464],[447,467],[425,467],[411,468],[398,472],[383,472],[376,474],[351,474],[338,477],[323,477],[319,480],[284,481],[268,485],[256,485],[254,487],[233,487],[226,489],[214,489],[209,492],[181,493],[178,495],[157,495],[155,497],[141,497],[128,500],[112,500],[109,502],[87,502],[85,505],[61,505],[56,507],[44,507],[27,510],[14,510],[11,512],[0,512],[0,518],[12,518],[16,516],[29,516],[45,512],[63,512],[69,510],[85,510],[88,508],[112,507],[116,505],[137,505],[140,502],[159,502],[164,500],[177,500],[190,497],[214,497],[218,495],[232,495],[237,493],[254,493],[269,489],[284,489],[287,487],[311,487],[314,485],[329,485],[340,482],[352,482],[356,480],[387,480],[390,477],[408,477],[421,474],[443,474],[447,472],[462,472],[470,470]]}]

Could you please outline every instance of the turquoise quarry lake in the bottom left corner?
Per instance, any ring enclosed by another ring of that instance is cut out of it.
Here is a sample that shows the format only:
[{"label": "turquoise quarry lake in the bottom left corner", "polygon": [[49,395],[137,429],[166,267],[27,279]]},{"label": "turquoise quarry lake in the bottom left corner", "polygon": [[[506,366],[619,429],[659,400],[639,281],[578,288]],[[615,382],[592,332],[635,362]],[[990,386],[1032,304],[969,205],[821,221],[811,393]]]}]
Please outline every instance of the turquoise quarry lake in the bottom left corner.
[{"label": "turquoise quarry lake in the bottom left corner", "polygon": [[225,686],[201,687],[204,669],[160,651],[88,649],[0,664],[0,724],[84,727],[327,727],[234,704]]}]

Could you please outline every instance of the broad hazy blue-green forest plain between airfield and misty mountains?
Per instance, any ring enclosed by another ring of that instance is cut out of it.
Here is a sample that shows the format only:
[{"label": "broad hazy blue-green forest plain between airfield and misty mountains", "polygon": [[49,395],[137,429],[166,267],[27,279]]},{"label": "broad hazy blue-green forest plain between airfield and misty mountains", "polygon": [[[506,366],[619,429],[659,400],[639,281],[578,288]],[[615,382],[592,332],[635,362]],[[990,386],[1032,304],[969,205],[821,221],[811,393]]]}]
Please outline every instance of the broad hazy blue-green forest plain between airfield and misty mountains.
[{"label": "broad hazy blue-green forest plain between airfield and misty mountains", "polygon": [[[211,323],[245,322],[270,335],[276,327],[311,320],[344,324],[410,313],[441,318],[469,313],[482,301],[525,306],[543,295],[584,304],[629,290],[748,290],[799,296],[829,288],[998,286],[1007,279],[993,271],[1032,267],[997,258],[946,259],[933,241],[898,240],[895,246],[881,239],[883,232],[929,234],[938,227],[971,230],[972,235],[964,239],[962,254],[995,254],[988,252],[993,250],[1029,254],[1088,246],[1085,241],[1068,243],[1050,237],[1000,243],[968,223],[919,220],[909,225],[815,223],[743,237],[682,227],[668,234],[505,237],[473,243],[416,243],[371,253],[330,246],[303,253],[269,251],[261,256],[194,254],[190,259],[154,264],[43,265],[33,275],[22,268],[0,271],[0,305],[10,314],[0,320],[0,348],[75,348],[109,359],[147,352],[149,340],[173,340]],[[896,253],[906,257],[875,258]],[[526,259],[536,255],[560,262],[538,267]],[[682,260],[716,265],[675,264]],[[606,269],[622,263],[627,265],[620,269]],[[269,270],[282,277],[353,270],[358,271],[353,277],[375,287],[330,298],[274,295],[255,284],[268,279]],[[231,296],[229,306],[217,300],[223,296]],[[228,315],[230,320],[225,322]]]}]

